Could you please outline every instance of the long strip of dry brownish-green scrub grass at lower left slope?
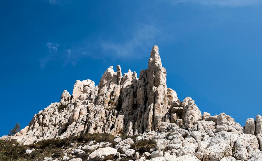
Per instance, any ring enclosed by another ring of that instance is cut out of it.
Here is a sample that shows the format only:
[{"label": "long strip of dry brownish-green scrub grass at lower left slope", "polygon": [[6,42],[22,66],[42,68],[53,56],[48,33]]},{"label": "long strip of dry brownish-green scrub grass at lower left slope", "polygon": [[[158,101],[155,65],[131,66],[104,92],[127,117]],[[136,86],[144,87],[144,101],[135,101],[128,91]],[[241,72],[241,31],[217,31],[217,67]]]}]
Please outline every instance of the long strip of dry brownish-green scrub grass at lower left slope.
[{"label": "long strip of dry brownish-green scrub grass at lower left slope", "polygon": [[[79,144],[86,143],[91,140],[96,142],[108,141],[111,143],[111,147],[115,146],[114,136],[107,133],[94,133],[94,134],[83,134],[80,136],[73,136],[64,139],[48,139],[41,140],[35,144],[30,145],[19,145],[14,141],[3,141],[0,140],[0,160],[4,161],[34,161],[43,160],[44,157],[63,158],[62,147],[68,147],[71,143]],[[26,154],[26,149],[36,149],[30,154]],[[87,154],[83,154],[80,158],[86,160]]]}]

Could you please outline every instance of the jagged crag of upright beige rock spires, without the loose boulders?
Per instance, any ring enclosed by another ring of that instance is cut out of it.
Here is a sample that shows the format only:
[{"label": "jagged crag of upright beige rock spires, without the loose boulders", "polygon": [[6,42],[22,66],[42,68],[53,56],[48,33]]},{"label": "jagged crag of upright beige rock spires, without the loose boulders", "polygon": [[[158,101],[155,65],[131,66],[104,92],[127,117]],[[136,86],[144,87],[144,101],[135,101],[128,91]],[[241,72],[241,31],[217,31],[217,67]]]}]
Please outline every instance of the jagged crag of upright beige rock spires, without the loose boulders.
[{"label": "jagged crag of upright beige rock spires, without the loose boulders", "polygon": [[201,118],[201,112],[191,98],[184,100],[185,107],[182,105],[176,92],[167,88],[166,76],[155,45],[148,69],[141,70],[139,78],[131,70],[122,75],[117,65],[116,72],[113,66],[104,72],[97,86],[91,80],[77,80],[72,96],[65,90],[59,103],[39,111],[27,127],[8,139],[30,144],[43,138],[83,133],[136,135],[159,131],[163,122],[190,129]]}]

